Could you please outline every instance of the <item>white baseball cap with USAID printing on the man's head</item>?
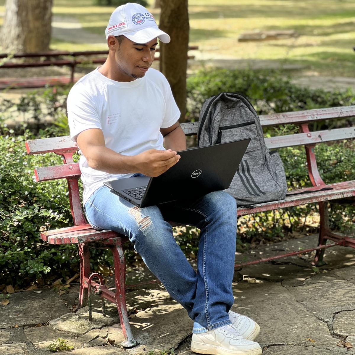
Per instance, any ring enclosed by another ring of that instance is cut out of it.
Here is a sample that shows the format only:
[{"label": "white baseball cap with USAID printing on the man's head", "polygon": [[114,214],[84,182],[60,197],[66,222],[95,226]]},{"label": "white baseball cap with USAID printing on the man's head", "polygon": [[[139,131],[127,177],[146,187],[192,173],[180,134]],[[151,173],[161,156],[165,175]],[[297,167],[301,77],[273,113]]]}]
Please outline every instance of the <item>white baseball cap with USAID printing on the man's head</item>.
[{"label": "white baseball cap with USAID printing on the man's head", "polygon": [[109,35],[125,35],[135,43],[147,43],[158,37],[164,43],[170,42],[170,37],[160,31],[154,16],[142,5],[127,2],[115,9],[105,30],[106,39]]}]

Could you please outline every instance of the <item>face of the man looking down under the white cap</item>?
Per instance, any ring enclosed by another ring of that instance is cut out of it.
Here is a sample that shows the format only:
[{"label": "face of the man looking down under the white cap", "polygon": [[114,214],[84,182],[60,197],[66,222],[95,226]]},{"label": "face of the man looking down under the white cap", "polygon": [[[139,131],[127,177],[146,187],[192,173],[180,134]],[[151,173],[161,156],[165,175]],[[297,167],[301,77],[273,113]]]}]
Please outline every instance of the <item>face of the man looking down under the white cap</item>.
[{"label": "face of the man looking down under the white cap", "polygon": [[[117,39],[116,39],[117,41]],[[124,37],[116,44],[115,64],[119,81],[133,81],[142,78],[152,65],[157,38],[148,43],[135,43]]]}]

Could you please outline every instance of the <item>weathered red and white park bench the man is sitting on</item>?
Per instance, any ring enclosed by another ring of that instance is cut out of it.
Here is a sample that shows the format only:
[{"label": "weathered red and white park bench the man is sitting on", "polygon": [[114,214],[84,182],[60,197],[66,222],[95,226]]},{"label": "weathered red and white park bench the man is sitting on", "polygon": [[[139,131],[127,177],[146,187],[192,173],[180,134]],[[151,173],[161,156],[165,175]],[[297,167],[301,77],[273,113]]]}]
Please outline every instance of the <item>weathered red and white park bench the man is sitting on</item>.
[{"label": "weathered red and white park bench the man is sitting on", "polygon": [[[297,195],[286,196],[282,201],[272,201],[255,205],[255,208],[249,209],[240,207],[237,209],[237,215],[247,215],[262,211],[271,211],[273,209],[298,206],[306,203],[318,203],[320,211],[320,234],[317,247],[302,251],[290,252],[284,255],[277,255],[267,259],[255,260],[249,263],[236,264],[235,267],[245,266],[266,262],[273,259],[282,258],[290,255],[316,250],[316,256],[313,264],[322,263],[324,249],[335,246],[355,247],[354,239],[348,236],[340,236],[329,230],[328,226],[328,201],[337,199],[346,199],[355,196],[355,180],[346,182],[337,182],[326,184],[323,182],[318,169],[315,157],[314,147],[318,143],[331,142],[335,140],[348,140],[355,138],[355,127],[338,128],[332,130],[310,132],[308,124],[325,119],[344,119],[355,116],[355,106],[337,107],[326,109],[315,109],[307,111],[296,111],[280,114],[260,116],[262,126],[277,126],[285,124],[296,124],[300,127],[300,133],[294,135],[277,136],[266,138],[266,145],[270,149],[277,149],[289,146],[305,146],[308,173],[313,187],[307,187],[303,190],[295,190],[292,193]],[[197,122],[181,124],[186,136],[197,134]],[[95,230],[86,221],[81,201],[79,197],[78,179],[80,178],[79,164],[73,162],[73,153],[77,151],[77,146],[70,140],[70,137],[44,138],[26,142],[28,154],[53,152],[62,156],[64,164],[49,167],[39,167],[35,169],[35,178],[37,181],[47,181],[53,179],[65,178],[69,187],[70,207],[74,220],[74,225],[67,228],[43,231],[40,237],[50,244],[78,244],[81,282],[79,293],[79,307],[86,305],[89,298],[89,313],[91,312],[90,295],[92,288],[95,293],[101,297],[114,302],[118,308],[122,331],[125,335],[125,341],[122,343],[125,347],[135,346],[137,343],[133,339],[129,318],[127,315],[125,302],[125,258],[122,244],[128,240],[124,235],[117,234],[109,230]],[[310,192],[315,190],[315,192]],[[303,192],[303,193],[300,193]],[[327,240],[333,241],[327,244]],[[107,248],[111,249],[114,256],[115,267],[115,289],[108,289],[102,283],[102,278],[98,274],[91,274],[89,266],[89,248]],[[99,278],[99,282],[94,282],[93,278]],[[158,282],[158,280],[156,280]],[[152,282],[149,282],[152,283]],[[92,287],[91,287],[92,286]],[[130,285],[129,288],[135,285]],[[103,306],[104,311],[104,306]]]}]

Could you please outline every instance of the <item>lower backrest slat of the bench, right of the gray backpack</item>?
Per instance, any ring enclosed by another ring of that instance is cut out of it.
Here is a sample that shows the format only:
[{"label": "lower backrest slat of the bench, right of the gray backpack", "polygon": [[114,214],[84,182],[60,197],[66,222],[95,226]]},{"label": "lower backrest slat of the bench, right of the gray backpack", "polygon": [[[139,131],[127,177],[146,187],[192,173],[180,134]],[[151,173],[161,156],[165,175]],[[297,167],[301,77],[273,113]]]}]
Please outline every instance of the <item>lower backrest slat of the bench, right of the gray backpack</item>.
[{"label": "lower backrest slat of the bench, right of the gray backpack", "polygon": [[315,144],[351,138],[355,138],[355,127],[265,138],[265,143],[269,149],[272,149],[303,146],[304,144]]}]

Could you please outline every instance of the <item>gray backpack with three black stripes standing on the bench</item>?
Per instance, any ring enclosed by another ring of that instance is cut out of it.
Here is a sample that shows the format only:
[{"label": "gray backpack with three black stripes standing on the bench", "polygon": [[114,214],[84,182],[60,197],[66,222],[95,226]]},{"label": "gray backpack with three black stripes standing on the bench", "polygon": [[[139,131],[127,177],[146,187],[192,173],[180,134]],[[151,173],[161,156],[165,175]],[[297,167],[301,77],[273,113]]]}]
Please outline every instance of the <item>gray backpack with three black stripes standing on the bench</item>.
[{"label": "gray backpack with three black stripes standing on the bench", "polygon": [[[251,138],[229,189],[238,206],[283,200],[287,185],[276,151],[265,145],[259,117],[250,102],[236,93],[220,93],[202,105],[197,146]],[[252,206],[251,206],[252,207]]]}]

